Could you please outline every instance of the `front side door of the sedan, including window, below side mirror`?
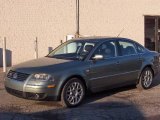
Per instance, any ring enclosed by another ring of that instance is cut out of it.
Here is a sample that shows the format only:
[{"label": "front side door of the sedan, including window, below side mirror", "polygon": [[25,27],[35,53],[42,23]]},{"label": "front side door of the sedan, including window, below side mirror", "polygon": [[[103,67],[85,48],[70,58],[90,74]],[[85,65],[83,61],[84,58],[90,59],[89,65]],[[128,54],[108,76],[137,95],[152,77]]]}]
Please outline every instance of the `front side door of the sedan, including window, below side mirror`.
[{"label": "front side door of the sedan, including window, below side mirror", "polygon": [[91,60],[89,78],[90,87],[93,91],[105,89],[107,86],[116,84],[117,74],[117,47],[114,41],[106,41],[102,43],[93,53],[95,55],[102,55],[101,60]]}]

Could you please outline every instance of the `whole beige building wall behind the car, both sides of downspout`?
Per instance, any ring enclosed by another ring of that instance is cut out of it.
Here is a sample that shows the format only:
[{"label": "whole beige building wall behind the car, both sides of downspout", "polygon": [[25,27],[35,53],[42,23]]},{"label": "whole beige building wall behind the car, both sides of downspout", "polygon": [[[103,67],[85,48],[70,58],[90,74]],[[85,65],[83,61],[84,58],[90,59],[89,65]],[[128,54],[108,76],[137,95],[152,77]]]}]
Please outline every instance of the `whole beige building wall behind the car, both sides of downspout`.
[{"label": "whole beige building wall behind the car, both sides of downspout", "polygon": [[[55,48],[76,30],[76,0],[0,0],[0,48],[7,38],[12,64]],[[128,37],[144,44],[144,15],[160,15],[159,0],[80,0],[80,34]],[[1,59],[0,59],[1,60]]]}]

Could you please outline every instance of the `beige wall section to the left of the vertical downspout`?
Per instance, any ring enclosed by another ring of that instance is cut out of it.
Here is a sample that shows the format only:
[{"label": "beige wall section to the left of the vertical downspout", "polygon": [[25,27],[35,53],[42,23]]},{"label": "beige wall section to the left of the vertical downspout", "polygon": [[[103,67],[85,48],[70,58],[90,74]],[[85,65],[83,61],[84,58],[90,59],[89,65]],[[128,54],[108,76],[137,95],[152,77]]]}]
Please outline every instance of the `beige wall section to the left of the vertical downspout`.
[{"label": "beige wall section to the left of the vertical downspout", "polygon": [[74,34],[74,5],[74,0],[0,0],[0,36],[7,39],[12,64],[35,58],[36,37],[41,57]]}]

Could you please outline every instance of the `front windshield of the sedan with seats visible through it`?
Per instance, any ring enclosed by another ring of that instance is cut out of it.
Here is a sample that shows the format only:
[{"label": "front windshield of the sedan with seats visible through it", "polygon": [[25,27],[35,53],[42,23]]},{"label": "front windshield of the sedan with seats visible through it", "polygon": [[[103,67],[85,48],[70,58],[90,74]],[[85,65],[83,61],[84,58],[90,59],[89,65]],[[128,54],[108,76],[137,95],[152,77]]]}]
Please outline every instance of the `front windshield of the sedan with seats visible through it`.
[{"label": "front windshield of the sedan with seats visible through it", "polygon": [[46,57],[83,60],[95,47],[95,42],[69,41],[53,50]]}]

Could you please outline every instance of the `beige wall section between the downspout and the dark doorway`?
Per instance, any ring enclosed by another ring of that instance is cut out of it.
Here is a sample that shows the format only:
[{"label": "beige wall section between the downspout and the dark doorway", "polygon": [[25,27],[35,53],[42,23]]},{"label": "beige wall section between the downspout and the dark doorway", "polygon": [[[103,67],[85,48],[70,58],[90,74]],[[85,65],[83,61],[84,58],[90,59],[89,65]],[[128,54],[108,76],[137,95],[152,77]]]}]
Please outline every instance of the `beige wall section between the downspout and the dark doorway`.
[{"label": "beige wall section between the downspout and the dark doorway", "polygon": [[81,0],[80,31],[128,37],[144,44],[144,15],[160,15],[159,0]]}]

